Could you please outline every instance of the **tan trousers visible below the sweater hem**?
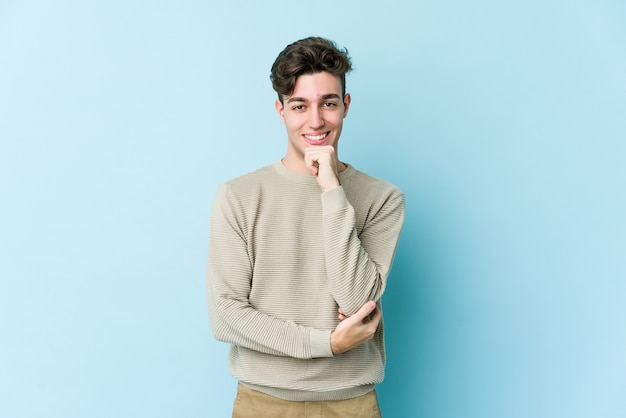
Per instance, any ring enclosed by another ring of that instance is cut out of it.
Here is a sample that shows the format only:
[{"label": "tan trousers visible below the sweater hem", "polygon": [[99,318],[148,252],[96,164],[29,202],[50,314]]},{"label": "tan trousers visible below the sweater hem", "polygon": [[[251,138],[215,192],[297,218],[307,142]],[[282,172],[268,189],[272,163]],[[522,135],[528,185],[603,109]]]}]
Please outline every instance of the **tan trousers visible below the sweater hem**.
[{"label": "tan trousers visible below the sweater hem", "polygon": [[292,402],[239,385],[233,418],[382,418],[376,391],[344,401]]}]

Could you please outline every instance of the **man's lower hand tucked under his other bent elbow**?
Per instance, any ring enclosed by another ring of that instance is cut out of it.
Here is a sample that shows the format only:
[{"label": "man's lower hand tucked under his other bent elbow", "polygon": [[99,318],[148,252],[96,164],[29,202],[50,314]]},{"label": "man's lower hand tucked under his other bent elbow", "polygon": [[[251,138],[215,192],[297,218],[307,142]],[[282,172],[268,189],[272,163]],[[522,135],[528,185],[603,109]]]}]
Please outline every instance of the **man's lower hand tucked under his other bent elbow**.
[{"label": "man's lower hand tucked under his other bent elbow", "polygon": [[334,355],[345,353],[357,345],[370,340],[383,314],[373,301],[367,302],[351,317],[346,317],[339,310],[341,322],[330,334],[330,348]]}]

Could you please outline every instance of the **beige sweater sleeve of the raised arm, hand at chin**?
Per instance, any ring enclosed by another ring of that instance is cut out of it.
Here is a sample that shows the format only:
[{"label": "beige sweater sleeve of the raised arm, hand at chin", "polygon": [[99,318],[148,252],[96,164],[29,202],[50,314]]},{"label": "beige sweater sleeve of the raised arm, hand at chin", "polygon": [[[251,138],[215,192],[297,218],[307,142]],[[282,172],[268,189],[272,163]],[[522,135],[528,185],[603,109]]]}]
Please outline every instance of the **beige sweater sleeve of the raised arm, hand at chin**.
[{"label": "beige sweater sleeve of the raised arm, hand at chin", "polygon": [[330,290],[349,316],[383,295],[404,221],[404,194],[391,187],[380,202],[368,208],[360,234],[342,186],[322,193],[322,207]]}]

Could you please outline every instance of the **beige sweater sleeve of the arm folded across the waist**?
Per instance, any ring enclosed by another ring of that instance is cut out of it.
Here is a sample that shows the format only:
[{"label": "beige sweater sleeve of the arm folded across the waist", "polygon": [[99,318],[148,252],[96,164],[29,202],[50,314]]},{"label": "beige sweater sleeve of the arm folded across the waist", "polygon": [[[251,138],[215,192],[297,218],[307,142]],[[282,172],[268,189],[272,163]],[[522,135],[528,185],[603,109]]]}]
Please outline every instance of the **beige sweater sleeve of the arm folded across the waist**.
[{"label": "beige sweater sleeve of the arm folded across the waist", "polygon": [[301,359],[332,357],[330,333],[269,316],[251,306],[254,260],[242,208],[223,185],[211,216],[207,303],[216,339],[261,353]]}]

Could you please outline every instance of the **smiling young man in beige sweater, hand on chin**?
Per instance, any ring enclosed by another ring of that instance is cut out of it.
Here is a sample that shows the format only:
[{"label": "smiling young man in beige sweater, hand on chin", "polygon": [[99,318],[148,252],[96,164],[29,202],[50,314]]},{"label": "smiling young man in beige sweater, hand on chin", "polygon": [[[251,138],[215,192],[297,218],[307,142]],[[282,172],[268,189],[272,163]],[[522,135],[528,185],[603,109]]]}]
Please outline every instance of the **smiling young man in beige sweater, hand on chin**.
[{"label": "smiling young man in beige sweater, hand on chin", "polygon": [[217,193],[207,295],[239,380],[233,417],[380,417],[404,195],[338,158],[350,69],[326,39],[287,46],[271,72],[287,153]]}]

